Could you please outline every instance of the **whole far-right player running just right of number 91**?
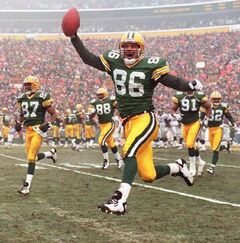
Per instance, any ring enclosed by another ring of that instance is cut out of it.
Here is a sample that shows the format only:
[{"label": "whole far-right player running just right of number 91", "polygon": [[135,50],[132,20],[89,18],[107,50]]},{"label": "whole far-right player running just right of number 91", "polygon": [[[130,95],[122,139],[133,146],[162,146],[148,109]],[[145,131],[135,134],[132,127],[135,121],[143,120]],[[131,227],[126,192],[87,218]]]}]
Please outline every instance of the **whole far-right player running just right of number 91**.
[{"label": "whole far-right player running just right of number 91", "polygon": [[[230,113],[230,109],[227,103],[223,103],[222,95],[218,91],[214,91],[210,95],[211,101],[211,116],[208,119],[208,135],[210,145],[213,151],[212,163],[207,169],[209,174],[214,174],[214,170],[219,157],[219,150],[221,150],[220,144],[223,137],[223,117],[225,116],[233,127],[236,127],[234,119]],[[201,113],[201,117],[205,117],[205,113]]]}]

